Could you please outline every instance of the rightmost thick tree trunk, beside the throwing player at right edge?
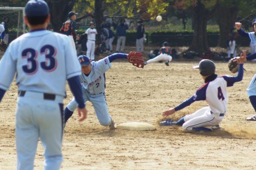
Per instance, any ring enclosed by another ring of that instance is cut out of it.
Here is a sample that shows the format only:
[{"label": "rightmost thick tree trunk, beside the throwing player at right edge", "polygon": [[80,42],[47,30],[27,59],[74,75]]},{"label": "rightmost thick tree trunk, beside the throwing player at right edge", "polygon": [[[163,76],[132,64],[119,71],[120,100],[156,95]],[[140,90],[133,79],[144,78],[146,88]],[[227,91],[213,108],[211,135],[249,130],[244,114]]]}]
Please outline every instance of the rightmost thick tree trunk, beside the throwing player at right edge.
[{"label": "rightmost thick tree trunk, beside the throwing player at right edge", "polygon": [[238,16],[238,7],[225,7],[218,5],[216,16],[220,27],[218,46],[227,47],[227,41],[229,40],[228,34],[231,32],[231,29],[234,28],[234,22],[236,22]]}]

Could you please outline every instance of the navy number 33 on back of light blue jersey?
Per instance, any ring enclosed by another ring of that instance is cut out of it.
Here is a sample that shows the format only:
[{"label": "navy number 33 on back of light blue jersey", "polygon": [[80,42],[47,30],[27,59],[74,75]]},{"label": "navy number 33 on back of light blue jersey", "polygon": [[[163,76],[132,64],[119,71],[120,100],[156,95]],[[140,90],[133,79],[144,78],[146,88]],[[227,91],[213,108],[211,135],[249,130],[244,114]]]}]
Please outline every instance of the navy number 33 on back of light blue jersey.
[{"label": "navy number 33 on back of light blue jersey", "polygon": [[[47,72],[55,70],[57,67],[57,61],[54,58],[56,55],[55,48],[51,45],[45,45],[41,48],[40,53],[45,54],[45,57],[46,57],[46,61],[40,63],[41,68]],[[27,65],[22,66],[23,71],[28,75],[35,74],[35,72],[38,69],[38,62],[36,60],[37,51],[34,50],[33,48],[26,48],[22,52],[22,57],[24,59],[27,58],[27,61],[28,61]],[[50,62],[50,64],[49,64],[49,62]]]}]

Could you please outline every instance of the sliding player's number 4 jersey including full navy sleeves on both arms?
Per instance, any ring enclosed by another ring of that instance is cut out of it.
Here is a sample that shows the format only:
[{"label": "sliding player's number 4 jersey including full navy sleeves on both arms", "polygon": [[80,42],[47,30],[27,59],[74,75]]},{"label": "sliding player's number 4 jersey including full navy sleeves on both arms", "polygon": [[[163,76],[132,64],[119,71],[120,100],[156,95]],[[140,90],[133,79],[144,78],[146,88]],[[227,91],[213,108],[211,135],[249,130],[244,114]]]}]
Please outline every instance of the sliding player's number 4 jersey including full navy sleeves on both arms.
[{"label": "sliding player's number 4 jersey including full navy sleeves on both arms", "polygon": [[205,100],[214,113],[226,113],[228,103],[227,87],[233,86],[234,83],[243,79],[243,64],[239,66],[237,77],[211,75],[205,79],[205,84],[201,86],[196,93],[188,100],[175,107],[175,111],[189,106],[195,101]]}]

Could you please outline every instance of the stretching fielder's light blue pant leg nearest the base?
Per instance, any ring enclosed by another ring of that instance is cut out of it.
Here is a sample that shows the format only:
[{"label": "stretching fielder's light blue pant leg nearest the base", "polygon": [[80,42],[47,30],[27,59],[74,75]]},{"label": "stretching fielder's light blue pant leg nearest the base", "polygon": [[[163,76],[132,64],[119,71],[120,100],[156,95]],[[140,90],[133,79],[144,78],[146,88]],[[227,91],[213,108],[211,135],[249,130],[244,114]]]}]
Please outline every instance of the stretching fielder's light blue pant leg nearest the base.
[{"label": "stretching fielder's light blue pant leg nearest the base", "polygon": [[112,118],[109,115],[108,104],[106,103],[105,95],[102,94],[95,98],[94,96],[90,96],[90,101],[93,104],[100,125],[110,126]]}]

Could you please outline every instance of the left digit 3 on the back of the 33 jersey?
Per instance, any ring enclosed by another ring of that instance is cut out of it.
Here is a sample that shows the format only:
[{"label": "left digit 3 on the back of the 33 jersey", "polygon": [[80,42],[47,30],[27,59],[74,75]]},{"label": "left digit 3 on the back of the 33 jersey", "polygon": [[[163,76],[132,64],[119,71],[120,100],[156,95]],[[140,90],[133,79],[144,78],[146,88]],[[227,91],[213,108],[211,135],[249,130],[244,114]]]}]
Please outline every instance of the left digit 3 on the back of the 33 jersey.
[{"label": "left digit 3 on the back of the 33 jersey", "polygon": [[22,66],[23,71],[29,75],[34,74],[37,71],[38,65],[38,62],[35,60],[37,58],[37,52],[33,48],[26,48],[22,52],[22,58],[27,58],[28,60],[28,64]]}]

